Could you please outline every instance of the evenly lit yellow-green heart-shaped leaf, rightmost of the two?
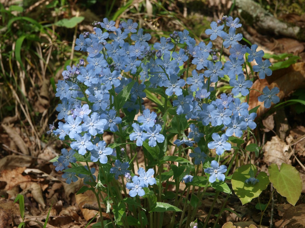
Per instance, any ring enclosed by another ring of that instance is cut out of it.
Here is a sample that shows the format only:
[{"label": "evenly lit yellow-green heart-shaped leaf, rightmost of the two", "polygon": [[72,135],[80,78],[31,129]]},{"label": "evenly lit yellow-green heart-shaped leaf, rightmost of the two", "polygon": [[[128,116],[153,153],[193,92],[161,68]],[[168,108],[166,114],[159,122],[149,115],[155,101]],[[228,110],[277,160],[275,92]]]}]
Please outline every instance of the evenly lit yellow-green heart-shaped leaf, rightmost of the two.
[{"label": "evenly lit yellow-green heart-shaped leaf, rightmost of the two", "polygon": [[282,163],[280,170],[277,164],[268,167],[269,180],[276,191],[286,197],[293,206],[299,200],[302,192],[302,179],[295,167]]}]

